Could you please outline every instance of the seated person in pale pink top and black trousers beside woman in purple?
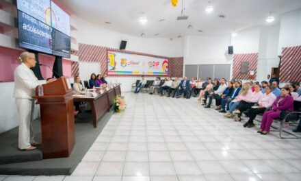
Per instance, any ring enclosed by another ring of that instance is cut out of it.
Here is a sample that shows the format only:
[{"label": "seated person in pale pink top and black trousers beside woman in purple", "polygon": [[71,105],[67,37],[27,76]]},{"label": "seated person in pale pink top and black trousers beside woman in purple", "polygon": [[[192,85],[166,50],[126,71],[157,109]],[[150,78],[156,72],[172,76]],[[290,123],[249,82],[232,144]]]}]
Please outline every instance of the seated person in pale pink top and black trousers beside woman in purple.
[{"label": "seated person in pale pink top and black trousers beside woman in purple", "polygon": [[276,96],[272,93],[272,86],[266,86],[265,87],[265,93],[259,99],[257,108],[250,108],[247,112],[247,116],[249,117],[249,120],[244,123],[244,127],[252,128],[254,127],[254,119],[257,116],[257,114],[261,114],[265,112],[267,108],[270,108],[275,101]]}]

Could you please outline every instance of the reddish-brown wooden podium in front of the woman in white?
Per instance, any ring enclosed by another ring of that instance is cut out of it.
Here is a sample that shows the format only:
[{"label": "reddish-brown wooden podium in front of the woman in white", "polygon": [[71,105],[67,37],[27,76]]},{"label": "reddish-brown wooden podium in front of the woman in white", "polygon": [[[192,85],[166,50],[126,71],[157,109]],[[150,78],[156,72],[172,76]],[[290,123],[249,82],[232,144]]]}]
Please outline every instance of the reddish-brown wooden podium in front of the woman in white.
[{"label": "reddish-brown wooden podium in front of the woman in white", "polygon": [[68,157],[75,144],[73,93],[65,77],[43,84],[44,96],[34,98],[40,104],[43,158]]}]

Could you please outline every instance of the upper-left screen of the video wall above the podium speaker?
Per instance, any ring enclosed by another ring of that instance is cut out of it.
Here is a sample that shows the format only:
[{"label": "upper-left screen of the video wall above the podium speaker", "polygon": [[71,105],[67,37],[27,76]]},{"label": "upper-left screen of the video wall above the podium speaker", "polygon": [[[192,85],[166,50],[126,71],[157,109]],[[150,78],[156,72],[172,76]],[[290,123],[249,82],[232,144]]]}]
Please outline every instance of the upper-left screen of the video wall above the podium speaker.
[{"label": "upper-left screen of the video wall above the podium speaker", "polygon": [[17,8],[33,16],[35,19],[51,25],[51,9],[49,0],[17,0]]}]

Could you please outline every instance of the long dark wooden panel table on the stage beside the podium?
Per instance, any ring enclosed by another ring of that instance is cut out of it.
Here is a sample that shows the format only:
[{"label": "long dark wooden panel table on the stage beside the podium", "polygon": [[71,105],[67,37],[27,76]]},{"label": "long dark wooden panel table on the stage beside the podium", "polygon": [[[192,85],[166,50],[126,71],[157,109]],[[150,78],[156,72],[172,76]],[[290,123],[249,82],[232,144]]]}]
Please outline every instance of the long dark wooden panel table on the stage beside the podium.
[{"label": "long dark wooden panel table on the stage beside the podium", "polygon": [[[94,128],[97,127],[97,120],[102,117],[105,112],[109,112],[110,108],[114,105],[116,95],[121,95],[120,84],[103,90],[103,93],[100,93],[99,90],[100,88],[96,88],[96,97],[73,95],[74,101],[90,103]],[[91,92],[92,90],[89,89],[88,91]]]}]

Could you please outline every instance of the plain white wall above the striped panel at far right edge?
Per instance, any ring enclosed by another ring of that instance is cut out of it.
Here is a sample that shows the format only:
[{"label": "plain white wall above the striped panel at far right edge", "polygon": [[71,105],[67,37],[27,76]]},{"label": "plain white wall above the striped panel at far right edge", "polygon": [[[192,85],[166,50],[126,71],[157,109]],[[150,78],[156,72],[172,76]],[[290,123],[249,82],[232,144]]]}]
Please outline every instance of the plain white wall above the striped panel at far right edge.
[{"label": "plain white wall above the striped panel at far right edge", "polygon": [[283,47],[301,45],[301,10],[287,12],[280,19],[278,55]]}]

